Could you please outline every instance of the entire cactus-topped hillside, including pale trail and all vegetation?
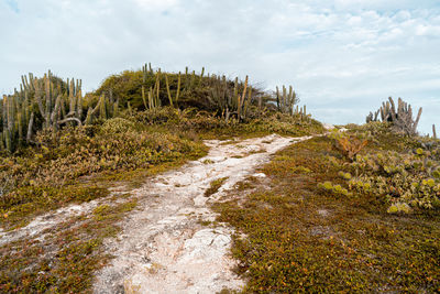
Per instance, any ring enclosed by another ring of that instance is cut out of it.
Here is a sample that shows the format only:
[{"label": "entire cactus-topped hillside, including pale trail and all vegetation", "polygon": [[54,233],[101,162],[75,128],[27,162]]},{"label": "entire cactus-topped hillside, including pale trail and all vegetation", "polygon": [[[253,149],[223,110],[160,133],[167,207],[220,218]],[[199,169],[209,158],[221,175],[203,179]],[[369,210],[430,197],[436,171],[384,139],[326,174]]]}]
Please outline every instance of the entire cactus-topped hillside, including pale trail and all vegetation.
[{"label": "entire cactus-topped hillside, including pale trail and all vegetation", "polygon": [[328,130],[292,86],[205,69],[19,89],[0,104],[1,292],[440,291],[440,142],[400,99]]}]

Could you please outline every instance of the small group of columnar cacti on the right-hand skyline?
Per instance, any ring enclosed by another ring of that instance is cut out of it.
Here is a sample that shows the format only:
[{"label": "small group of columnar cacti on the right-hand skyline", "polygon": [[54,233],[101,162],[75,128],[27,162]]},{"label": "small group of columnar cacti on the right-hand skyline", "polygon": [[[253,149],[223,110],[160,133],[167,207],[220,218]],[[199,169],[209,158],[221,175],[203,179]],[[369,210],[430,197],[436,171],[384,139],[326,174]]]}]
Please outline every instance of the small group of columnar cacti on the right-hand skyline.
[{"label": "small group of columnar cacti on the right-hand skyline", "polygon": [[416,120],[413,118],[413,108],[410,105],[398,98],[398,105],[396,105],[392,97],[388,98],[388,101],[383,102],[382,107],[366,117],[366,122],[380,121],[378,116],[381,115],[381,120],[383,122],[391,122],[393,129],[397,132],[406,133],[409,135],[414,135],[417,133],[417,124],[419,123],[421,116],[421,108],[417,113]]}]

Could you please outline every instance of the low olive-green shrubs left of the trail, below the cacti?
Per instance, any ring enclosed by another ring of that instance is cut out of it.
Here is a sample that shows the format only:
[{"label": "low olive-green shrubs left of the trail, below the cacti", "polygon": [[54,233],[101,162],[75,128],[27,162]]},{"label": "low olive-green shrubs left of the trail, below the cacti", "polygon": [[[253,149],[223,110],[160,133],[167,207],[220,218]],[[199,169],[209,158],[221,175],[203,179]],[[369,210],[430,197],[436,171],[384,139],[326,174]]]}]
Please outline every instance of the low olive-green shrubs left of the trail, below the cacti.
[{"label": "low olive-green shrubs left of the trail, below the cacti", "polygon": [[[101,126],[65,128],[56,141],[50,131],[40,132],[36,139],[38,148],[0,157],[0,211],[9,214],[9,219],[74,200],[89,200],[82,198],[82,192],[66,192],[81,176],[151,168],[198,156],[205,150],[200,142],[185,135],[158,133],[123,118]],[[88,193],[90,197],[95,195]]]}]

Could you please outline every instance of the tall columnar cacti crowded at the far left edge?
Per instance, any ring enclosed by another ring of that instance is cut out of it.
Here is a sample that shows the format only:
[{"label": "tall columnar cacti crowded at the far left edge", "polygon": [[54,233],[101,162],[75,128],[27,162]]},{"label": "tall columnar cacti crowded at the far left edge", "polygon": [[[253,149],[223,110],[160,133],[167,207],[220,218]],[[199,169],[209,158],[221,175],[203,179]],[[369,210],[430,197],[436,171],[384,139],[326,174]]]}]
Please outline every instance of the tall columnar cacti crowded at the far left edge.
[{"label": "tall columnar cacti crowded at the far left edge", "polygon": [[82,126],[95,118],[113,117],[118,112],[118,101],[111,95],[108,98],[102,95],[97,102],[84,99],[80,79],[63,81],[48,70],[43,78],[33,74],[22,76],[20,90],[3,95],[0,112],[0,150],[12,153],[32,143],[40,130],[56,134],[65,124]]}]

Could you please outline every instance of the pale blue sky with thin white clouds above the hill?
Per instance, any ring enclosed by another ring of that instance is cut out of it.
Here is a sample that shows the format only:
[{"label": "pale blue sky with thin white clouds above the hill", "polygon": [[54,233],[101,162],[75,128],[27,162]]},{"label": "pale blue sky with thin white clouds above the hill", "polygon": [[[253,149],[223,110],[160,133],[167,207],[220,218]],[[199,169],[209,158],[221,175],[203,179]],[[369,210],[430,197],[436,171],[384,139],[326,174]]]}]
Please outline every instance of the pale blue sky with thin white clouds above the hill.
[{"label": "pale blue sky with thin white clouds above the hill", "polygon": [[421,133],[440,129],[437,0],[0,0],[0,94],[30,72],[89,91],[144,63],[205,66],[293,85],[322,122],[363,123],[392,96],[424,108]]}]

